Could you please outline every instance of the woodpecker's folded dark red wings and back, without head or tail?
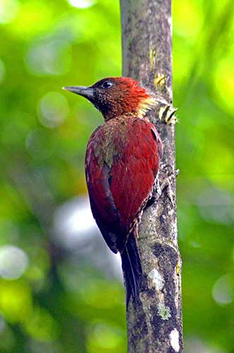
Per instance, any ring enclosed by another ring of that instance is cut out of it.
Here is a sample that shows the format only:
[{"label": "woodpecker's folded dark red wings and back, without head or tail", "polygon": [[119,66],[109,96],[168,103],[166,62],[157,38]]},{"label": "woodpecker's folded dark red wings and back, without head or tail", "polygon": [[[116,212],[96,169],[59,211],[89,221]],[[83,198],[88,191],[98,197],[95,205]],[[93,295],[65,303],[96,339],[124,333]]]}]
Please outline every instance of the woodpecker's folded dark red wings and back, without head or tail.
[{"label": "woodpecker's folded dark red wings and back, without head or tail", "polygon": [[[103,126],[91,136],[86,152],[86,179],[93,216],[114,252],[124,249],[129,229],[152,191],[162,153],[158,132],[148,121],[129,120],[125,133],[127,136],[119,133],[118,124],[112,126],[112,143],[116,148],[111,165],[110,155],[102,150],[110,138]],[[97,146],[104,156],[101,164]]]}]

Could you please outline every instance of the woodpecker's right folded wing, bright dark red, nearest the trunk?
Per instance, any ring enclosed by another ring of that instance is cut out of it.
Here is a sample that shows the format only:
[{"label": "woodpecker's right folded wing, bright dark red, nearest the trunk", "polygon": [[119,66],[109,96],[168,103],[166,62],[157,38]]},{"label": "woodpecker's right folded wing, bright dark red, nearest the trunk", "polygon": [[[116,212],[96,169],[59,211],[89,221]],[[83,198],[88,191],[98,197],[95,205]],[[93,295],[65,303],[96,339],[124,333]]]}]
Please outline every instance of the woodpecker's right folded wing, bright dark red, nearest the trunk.
[{"label": "woodpecker's right folded wing, bright dark red, nearest the trunk", "polygon": [[127,144],[122,157],[113,164],[110,190],[119,210],[121,226],[131,227],[134,217],[150,195],[160,155],[156,128],[137,119],[129,126]]}]

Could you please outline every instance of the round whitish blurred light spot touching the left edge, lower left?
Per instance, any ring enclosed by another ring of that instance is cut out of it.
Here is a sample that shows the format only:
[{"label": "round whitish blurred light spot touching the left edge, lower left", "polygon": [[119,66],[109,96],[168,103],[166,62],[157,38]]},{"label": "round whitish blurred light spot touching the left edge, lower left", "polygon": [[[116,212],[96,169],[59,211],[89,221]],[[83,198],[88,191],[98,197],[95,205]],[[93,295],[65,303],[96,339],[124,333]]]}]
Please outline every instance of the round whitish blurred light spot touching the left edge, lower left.
[{"label": "round whitish blurred light spot touching the left edge, lower left", "polygon": [[16,246],[0,247],[0,276],[7,280],[21,277],[28,267],[28,256]]}]

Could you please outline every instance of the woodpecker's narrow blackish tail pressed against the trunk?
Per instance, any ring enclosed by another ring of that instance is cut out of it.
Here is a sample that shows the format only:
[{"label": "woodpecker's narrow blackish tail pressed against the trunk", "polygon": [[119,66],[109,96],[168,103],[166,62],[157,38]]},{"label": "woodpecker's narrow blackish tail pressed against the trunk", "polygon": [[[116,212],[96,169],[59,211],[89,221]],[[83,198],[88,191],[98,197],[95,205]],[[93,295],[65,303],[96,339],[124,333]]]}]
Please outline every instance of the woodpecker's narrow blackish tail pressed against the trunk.
[{"label": "woodpecker's narrow blackish tail pressed against the trunk", "polygon": [[134,233],[130,234],[124,251],[121,254],[121,258],[126,288],[126,305],[128,306],[130,297],[132,297],[132,301],[135,301],[139,296],[141,287],[141,258]]}]

